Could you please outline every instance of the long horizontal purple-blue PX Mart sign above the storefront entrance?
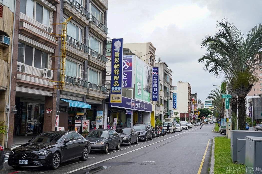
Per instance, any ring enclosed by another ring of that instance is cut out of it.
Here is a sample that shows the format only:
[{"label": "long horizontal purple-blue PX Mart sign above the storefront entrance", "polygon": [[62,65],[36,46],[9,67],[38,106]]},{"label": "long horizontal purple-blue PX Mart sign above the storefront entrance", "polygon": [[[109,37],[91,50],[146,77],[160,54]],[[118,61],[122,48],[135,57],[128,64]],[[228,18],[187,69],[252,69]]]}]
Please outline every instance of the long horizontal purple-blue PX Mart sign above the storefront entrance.
[{"label": "long horizontal purple-blue PX Mart sign above the storefront entrance", "polygon": [[152,112],[152,104],[144,103],[142,101],[130,99],[127,97],[122,97],[122,103],[110,103],[110,106],[123,109]]}]

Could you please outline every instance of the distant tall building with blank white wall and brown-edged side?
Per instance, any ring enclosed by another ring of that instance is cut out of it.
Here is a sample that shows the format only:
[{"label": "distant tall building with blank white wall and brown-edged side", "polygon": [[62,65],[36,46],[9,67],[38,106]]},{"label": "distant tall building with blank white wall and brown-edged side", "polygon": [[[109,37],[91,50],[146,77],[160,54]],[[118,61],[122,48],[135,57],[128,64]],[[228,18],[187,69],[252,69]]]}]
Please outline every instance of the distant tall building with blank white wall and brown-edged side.
[{"label": "distant tall building with blank white wall and brown-edged side", "polygon": [[[177,93],[177,109],[173,112],[178,112],[180,121],[190,120],[192,110],[191,85],[188,82],[177,82],[177,86],[173,86],[173,93]],[[186,118],[186,120],[185,120]]]}]

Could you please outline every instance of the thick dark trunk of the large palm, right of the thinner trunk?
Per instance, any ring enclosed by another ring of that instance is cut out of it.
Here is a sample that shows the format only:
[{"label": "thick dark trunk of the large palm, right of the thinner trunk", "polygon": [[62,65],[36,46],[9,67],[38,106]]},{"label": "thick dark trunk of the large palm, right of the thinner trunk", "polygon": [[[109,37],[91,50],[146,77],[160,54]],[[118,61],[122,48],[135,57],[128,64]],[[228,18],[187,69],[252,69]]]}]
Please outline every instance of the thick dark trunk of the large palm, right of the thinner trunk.
[{"label": "thick dark trunk of the large palm, right of the thinner trunk", "polygon": [[238,130],[245,130],[245,97],[238,97]]}]

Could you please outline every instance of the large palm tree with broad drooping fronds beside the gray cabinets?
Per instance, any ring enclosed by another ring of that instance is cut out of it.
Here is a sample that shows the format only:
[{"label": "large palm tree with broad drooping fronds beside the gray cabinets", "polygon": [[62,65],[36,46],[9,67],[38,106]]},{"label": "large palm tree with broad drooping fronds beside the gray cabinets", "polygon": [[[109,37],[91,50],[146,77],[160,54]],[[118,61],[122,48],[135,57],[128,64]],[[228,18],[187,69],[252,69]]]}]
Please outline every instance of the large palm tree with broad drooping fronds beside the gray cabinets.
[{"label": "large palm tree with broad drooping fronds beside the gray cabinets", "polygon": [[242,32],[224,18],[217,24],[221,27],[213,36],[207,35],[201,43],[208,53],[198,61],[205,62],[209,73],[228,79],[238,97],[239,130],[245,130],[245,101],[254,83],[259,81],[253,74],[262,62],[262,26],[255,26],[244,39]]}]

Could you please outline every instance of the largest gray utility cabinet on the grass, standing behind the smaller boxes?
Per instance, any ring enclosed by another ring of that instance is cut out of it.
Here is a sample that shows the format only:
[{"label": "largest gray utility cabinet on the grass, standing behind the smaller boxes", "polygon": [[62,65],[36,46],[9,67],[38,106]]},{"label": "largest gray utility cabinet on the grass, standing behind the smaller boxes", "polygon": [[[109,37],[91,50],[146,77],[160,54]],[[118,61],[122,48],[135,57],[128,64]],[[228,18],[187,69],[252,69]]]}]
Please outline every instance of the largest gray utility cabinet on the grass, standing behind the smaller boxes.
[{"label": "largest gray utility cabinet on the grass, standing behind the smaller boxes", "polygon": [[247,131],[247,130],[231,130],[230,131],[230,150],[232,161],[237,162],[237,139],[243,139],[245,136],[259,136],[262,137],[262,131]]}]

